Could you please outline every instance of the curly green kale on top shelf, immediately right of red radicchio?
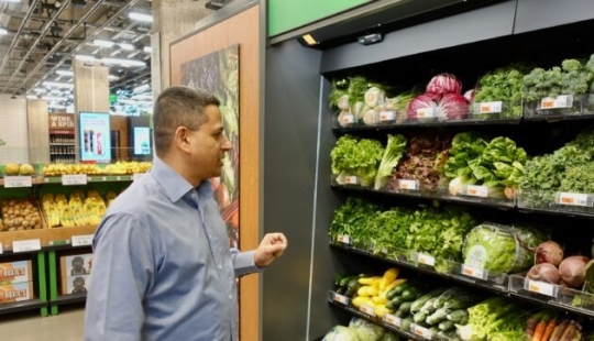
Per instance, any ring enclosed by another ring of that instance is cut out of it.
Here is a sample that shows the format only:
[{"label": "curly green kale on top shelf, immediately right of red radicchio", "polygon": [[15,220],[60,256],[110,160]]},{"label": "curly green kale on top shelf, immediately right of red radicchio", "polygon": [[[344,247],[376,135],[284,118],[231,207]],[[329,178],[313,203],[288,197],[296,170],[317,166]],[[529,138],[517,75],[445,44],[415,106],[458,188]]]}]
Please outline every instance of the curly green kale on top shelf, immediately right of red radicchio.
[{"label": "curly green kale on top shelf, immediately right of red radicchio", "polygon": [[[474,95],[474,102],[505,102],[499,118],[521,117],[521,91],[524,88],[524,74],[514,66],[498,68],[481,77]],[[491,114],[490,114],[491,116]],[[477,116],[473,113],[473,118]]]}]

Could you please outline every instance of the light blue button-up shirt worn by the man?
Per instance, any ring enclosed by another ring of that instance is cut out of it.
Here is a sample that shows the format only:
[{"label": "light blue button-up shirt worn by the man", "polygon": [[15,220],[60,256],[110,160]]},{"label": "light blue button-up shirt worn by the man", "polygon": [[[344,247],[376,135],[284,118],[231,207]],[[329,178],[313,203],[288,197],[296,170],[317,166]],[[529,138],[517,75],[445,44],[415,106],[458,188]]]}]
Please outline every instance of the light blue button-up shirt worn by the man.
[{"label": "light blue button-up shirt worn by the man", "polygon": [[237,341],[235,277],[260,271],[229,249],[209,182],[193,188],[155,157],[94,239],[87,341]]}]

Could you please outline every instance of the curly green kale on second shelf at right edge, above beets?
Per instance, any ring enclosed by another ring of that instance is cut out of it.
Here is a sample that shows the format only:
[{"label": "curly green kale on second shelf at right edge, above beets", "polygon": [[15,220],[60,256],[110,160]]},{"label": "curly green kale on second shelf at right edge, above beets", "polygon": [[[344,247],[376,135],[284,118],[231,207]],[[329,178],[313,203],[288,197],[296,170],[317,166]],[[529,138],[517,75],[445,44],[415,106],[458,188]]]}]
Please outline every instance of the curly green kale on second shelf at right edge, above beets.
[{"label": "curly green kale on second shelf at right edge, above beets", "polygon": [[551,154],[525,165],[520,182],[521,205],[548,207],[557,191],[594,193],[594,132],[586,130]]}]

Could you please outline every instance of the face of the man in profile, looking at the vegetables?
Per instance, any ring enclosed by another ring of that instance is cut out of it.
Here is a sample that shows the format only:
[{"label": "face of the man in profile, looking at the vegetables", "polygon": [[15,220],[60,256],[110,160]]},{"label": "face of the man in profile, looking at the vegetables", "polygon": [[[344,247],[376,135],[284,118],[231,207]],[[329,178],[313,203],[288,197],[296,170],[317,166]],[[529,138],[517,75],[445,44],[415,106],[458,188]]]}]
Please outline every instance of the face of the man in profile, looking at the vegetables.
[{"label": "face of the man in profile, looking at the vegetables", "polygon": [[201,179],[221,175],[222,157],[231,150],[231,142],[223,133],[221,112],[217,106],[205,108],[208,121],[190,132],[190,158]]}]

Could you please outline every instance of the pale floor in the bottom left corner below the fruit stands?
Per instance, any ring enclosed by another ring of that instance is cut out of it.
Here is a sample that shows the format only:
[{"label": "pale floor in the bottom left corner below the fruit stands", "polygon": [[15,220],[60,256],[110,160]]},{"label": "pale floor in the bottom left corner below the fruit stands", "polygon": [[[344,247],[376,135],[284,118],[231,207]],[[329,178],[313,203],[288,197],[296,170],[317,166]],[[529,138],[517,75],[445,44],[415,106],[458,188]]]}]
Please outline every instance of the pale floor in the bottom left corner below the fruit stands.
[{"label": "pale floor in the bottom left corner below the fruit stands", "polygon": [[37,311],[0,315],[2,341],[82,341],[85,309],[61,307],[56,316],[41,317]]}]

